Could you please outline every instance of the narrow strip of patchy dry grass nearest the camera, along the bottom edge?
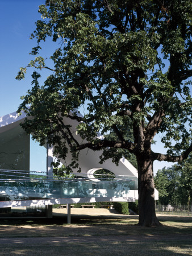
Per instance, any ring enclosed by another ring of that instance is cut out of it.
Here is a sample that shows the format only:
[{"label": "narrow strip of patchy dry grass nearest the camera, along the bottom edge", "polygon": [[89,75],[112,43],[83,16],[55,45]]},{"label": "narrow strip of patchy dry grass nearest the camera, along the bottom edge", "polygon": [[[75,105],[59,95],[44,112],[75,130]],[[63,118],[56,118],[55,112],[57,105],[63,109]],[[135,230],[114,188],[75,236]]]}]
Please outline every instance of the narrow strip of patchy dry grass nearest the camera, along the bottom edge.
[{"label": "narrow strip of patchy dry grass nearest the camera, along the bottom edge", "polygon": [[185,242],[94,242],[56,243],[49,245],[0,246],[0,255],[191,255],[191,245]]}]

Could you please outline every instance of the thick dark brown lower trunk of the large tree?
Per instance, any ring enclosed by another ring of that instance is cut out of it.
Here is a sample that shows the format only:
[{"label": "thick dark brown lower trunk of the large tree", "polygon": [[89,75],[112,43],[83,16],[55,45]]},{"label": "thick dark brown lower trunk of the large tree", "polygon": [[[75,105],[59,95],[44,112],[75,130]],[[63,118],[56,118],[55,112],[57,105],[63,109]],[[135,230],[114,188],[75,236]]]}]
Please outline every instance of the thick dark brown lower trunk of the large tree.
[{"label": "thick dark brown lower trunk of the large tree", "polygon": [[161,226],[155,213],[155,185],[153,180],[153,162],[137,156],[138,192],[139,192],[139,225]]}]

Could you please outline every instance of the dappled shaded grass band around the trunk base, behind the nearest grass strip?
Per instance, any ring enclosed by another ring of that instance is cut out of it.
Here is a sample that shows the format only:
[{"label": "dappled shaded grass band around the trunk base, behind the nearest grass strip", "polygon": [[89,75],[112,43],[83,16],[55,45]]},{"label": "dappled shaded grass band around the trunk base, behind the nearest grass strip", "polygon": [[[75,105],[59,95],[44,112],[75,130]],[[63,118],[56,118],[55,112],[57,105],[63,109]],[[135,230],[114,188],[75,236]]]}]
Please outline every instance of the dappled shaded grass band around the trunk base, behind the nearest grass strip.
[{"label": "dappled shaded grass band around the trunk base, behind the nearest grass strip", "polygon": [[0,221],[0,237],[64,237],[64,236],[164,236],[192,237],[191,219],[159,217],[164,226],[143,228],[137,226],[138,217],[111,218],[108,216],[72,216],[72,224],[66,224],[66,216],[51,219],[7,219]]}]

